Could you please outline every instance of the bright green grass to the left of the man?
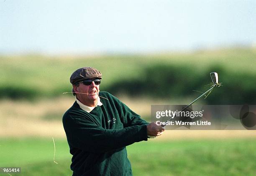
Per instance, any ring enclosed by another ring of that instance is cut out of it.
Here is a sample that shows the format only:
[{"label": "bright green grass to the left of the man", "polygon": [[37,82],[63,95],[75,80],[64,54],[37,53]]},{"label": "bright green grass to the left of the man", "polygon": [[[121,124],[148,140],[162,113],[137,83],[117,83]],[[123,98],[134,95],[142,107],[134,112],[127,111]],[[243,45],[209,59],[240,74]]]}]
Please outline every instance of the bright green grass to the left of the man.
[{"label": "bright green grass to the left of the man", "polygon": [[54,143],[50,139],[23,138],[0,140],[0,166],[21,167],[21,174],[12,176],[56,176],[72,175],[71,154],[65,140],[55,139],[56,156],[54,163]]}]

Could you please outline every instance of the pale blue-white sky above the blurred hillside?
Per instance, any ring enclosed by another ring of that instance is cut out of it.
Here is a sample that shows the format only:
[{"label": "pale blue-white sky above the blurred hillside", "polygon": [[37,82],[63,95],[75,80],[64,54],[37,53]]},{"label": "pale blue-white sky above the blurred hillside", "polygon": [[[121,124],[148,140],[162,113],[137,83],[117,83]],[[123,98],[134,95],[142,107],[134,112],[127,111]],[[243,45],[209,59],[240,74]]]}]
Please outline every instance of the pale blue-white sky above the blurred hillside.
[{"label": "pale blue-white sky above the blurred hillside", "polygon": [[256,0],[0,0],[0,53],[256,45]]}]

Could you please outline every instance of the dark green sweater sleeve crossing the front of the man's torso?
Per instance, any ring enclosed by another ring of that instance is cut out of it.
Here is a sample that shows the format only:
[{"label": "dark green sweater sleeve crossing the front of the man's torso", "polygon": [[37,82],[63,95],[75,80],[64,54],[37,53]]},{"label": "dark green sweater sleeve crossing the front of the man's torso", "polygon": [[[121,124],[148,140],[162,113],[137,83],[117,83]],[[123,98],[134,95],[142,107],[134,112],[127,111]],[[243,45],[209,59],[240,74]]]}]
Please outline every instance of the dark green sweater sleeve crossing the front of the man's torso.
[{"label": "dark green sweater sleeve crossing the front of the man's torso", "polygon": [[104,153],[147,140],[146,125],[123,129],[104,129],[89,120],[70,116],[63,123],[69,145],[94,153]]}]

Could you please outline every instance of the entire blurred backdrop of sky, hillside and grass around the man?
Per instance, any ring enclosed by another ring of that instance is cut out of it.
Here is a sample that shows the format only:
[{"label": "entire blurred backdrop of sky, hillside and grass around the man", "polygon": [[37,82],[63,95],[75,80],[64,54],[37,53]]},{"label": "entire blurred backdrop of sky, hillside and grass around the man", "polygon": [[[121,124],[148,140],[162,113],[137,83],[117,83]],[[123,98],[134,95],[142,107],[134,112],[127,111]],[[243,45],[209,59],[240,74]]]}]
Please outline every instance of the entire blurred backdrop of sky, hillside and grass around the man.
[{"label": "entire blurred backdrop of sky, hillside and grass around the man", "polygon": [[[0,167],[72,175],[62,115],[74,97],[63,92],[84,66],[148,121],[151,105],[188,104],[209,89],[212,71],[223,87],[196,104],[255,105],[255,9],[253,0],[2,0]],[[128,158],[135,176],[253,175],[255,137],[168,130],[128,146]]]}]

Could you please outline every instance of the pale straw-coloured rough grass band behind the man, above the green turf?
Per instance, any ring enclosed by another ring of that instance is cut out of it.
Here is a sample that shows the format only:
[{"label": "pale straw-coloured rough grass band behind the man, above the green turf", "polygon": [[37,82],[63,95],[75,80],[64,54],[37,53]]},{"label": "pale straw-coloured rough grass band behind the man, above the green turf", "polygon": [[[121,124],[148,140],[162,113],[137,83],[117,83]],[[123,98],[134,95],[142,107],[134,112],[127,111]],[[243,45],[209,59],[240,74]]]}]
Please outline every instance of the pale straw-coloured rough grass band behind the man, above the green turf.
[{"label": "pale straw-coloured rough grass band behind the man, above the green turf", "polygon": [[[136,113],[148,122],[151,121],[151,105],[165,105],[168,102],[154,99],[131,99],[120,97]],[[171,104],[189,102],[175,100]],[[29,101],[0,101],[0,138],[28,136],[66,138],[62,125],[62,115],[73,104],[74,98],[41,99]],[[166,130],[160,139],[175,138],[247,138],[255,137],[252,130]]]}]

